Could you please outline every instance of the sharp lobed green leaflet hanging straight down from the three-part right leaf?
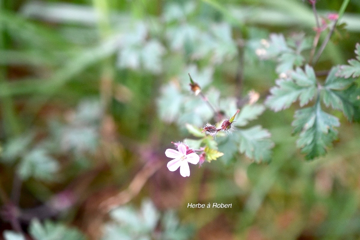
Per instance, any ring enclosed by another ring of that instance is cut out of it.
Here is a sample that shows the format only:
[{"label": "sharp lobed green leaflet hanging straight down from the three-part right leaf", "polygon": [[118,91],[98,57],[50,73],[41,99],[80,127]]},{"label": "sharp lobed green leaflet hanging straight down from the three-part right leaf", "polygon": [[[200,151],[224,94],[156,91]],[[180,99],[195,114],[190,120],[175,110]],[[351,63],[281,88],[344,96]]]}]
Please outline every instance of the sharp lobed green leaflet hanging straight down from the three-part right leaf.
[{"label": "sharp lobed green leaflet hanging straight down from the three-part right leaf", "polygon": [[325,113],[320,101],[313,107],[297,110],[294,118],[294,134],[300,132],[297,146],[306,154],[305,158],[314,159],[325,155],[326,149],[336,139],[335,127],[340,126],[339,119]]}]

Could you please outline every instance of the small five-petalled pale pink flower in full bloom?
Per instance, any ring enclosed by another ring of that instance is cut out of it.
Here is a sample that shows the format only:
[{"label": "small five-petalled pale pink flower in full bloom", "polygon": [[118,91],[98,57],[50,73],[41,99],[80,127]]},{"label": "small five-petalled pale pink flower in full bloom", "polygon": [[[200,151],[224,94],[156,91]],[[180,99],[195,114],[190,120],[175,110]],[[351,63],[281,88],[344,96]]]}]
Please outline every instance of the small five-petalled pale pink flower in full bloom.
[{"label": "small five-petalled pale pink flower in full bloom", "polygon": [[186,154],[186,146],[184,144],[179,144],[177,146],[179,151],[174,149],[166,149],[165,155],[168,158],[174,158],[167,163],[167,168],[174,172],[180,167],[180,174],[183,177],[190,176],[189,163],[197,164],[199,162],[199,155],[196,153]]}]

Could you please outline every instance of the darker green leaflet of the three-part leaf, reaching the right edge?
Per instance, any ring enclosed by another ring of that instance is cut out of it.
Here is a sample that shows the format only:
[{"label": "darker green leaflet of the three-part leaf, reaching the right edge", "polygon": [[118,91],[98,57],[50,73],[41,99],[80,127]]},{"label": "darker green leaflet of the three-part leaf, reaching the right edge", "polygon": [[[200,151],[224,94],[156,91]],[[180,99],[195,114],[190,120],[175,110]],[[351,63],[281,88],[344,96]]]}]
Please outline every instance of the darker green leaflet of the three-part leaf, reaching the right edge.
[{"label": "darker green leaflet of the three-part leaf, reaching the right edge", "polygon": [[360,121],[360,88],[354,83],[345,90],[323,89],[323,101],[328,107],[341,110],[349,121]]}]

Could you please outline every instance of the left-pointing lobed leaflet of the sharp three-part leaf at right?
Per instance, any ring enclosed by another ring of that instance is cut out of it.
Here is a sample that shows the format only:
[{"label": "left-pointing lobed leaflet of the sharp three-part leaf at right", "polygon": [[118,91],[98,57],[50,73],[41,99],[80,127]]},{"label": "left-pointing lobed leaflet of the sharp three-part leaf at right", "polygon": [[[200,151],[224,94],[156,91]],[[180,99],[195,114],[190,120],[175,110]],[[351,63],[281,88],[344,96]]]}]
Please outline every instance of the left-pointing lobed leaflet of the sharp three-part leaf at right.
[{"label": "left-pointing lobed leaflet of the sharp three-part leaf at right", "polygon": [[290,107],[298,98],[300,106],[306,105],[316,93],[316,85],[299,86],[290,79],[276,80],[276,87],[270,89],[271,95],[267,97],[265,104],[275,112]]}]

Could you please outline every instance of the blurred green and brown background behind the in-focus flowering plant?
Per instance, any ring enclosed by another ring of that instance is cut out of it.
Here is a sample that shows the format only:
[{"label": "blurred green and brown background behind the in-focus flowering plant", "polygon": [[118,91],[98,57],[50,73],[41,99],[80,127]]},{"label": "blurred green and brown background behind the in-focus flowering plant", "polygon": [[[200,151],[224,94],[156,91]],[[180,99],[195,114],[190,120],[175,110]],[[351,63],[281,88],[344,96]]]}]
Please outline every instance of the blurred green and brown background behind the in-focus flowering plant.
[{"label": "blurred green and brown background behind the in-focus flowering plant", "polygon": [[[325,18],[341,4],[316,7]],[[341,22],[315,71],[354,58],[360,1]],[[339,111],[338,140],[313,161],[291,135],[294,104],[250,123],[271,132],[270,163],[237,153],[230,134],[224,157],[190,177],[166,168],[185,123],[212,117],[189,72],[210,100],[255,90],[262,102],[278,74],[256,55],[261,39],[313,38],[314,26],[301,0],[0,0],[1,237],[359,239],[360,127]]]}]

